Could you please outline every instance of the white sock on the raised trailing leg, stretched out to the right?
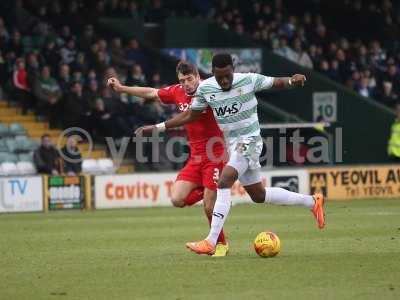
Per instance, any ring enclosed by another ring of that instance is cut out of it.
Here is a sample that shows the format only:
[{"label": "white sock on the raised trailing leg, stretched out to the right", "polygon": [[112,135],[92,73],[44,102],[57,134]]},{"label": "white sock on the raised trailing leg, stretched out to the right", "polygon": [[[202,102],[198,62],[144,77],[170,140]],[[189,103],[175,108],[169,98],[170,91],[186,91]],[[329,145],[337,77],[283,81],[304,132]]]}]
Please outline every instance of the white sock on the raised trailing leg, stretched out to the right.
[{"label": "white sock on the raised trailing leg, stretched out to the right", "polygon": [[265,203],[278,205],[314,206],[314,198],[309,195],[289,192],[278,187],[265,188]]}]

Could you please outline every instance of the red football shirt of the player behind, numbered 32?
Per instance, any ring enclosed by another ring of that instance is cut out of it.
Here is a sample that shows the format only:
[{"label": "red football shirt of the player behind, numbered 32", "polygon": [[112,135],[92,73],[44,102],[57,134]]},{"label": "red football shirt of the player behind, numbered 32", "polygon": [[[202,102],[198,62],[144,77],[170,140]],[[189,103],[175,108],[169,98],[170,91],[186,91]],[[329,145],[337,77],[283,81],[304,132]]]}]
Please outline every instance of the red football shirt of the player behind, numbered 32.
[{"label": "red football shirt of the player behind, numbered 32", "polygon": [[[165,104],[175,104],[180,112],[187,111],[192,103],[192,96],[185,93],[180,84],[167,86],[158,90],[158,97]],[[208,140],[218,137],[223,141],[223,134],[219,129],[210,107],[196,121],[186,124],[187,138],[191,149],[191,155],[206,154]],[[222,155],[224,147],[222,143],[214,144],[214,154]]]}]

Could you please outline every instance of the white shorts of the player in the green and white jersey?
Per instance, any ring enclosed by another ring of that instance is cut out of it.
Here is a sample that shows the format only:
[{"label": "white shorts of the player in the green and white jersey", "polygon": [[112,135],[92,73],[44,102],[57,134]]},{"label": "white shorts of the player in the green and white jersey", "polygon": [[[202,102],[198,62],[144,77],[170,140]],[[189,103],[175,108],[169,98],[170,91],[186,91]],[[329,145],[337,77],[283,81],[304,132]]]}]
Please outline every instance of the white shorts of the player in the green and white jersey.
[{"label": "white shorts of the player in the green and white jersey", "polygon": [[236,169],[243,186],[261,182],[260,155],[263,142],[260,136],[243,138],[229,145],[228,166]]}]

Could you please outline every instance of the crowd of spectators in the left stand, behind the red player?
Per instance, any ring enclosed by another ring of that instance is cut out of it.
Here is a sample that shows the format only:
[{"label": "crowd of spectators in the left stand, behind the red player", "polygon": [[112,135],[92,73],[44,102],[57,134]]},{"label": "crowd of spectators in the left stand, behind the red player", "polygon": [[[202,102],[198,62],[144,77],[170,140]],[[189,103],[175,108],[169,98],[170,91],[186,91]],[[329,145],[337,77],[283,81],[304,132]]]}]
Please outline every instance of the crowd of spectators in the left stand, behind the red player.
[{"label": "crowd of spectators in the left stand, behind the red player", "polygon": [[[110,76],[128,85],[164,84],[136,39],[106,39],[93,24],[75,20],[77,1],[59,17],[61,3],[39,6],[36,16],[20,21],[17,17],[9,24],[6,16],[0,17],[0,87],[20,102],[24,112],[36,111],[53,127],[82,127],[99,139],[130,136],[138,126],[172,112],[107,88],[105,78]],[[83,32],[78,24],[84,26]]]}]

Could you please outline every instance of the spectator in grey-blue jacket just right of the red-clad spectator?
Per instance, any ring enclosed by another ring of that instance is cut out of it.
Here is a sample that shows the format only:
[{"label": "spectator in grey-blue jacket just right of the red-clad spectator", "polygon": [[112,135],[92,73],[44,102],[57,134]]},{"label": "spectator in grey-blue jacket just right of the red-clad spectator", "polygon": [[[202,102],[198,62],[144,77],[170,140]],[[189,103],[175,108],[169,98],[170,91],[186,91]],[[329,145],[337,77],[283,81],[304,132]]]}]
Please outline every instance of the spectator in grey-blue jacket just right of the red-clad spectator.
[{"label": "spectator in grey-blue jacket just right of the red-clad spectator", "polygon": [[50,75],[50,67],[44,66],[40,76],[35,80],[33,93],[38,100],[38,111],[49,118],[50,125],[60,125],[60,99],[62,96],[60,86]]}]

